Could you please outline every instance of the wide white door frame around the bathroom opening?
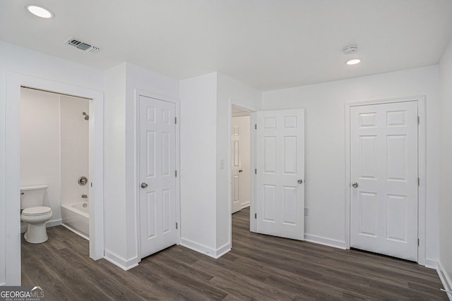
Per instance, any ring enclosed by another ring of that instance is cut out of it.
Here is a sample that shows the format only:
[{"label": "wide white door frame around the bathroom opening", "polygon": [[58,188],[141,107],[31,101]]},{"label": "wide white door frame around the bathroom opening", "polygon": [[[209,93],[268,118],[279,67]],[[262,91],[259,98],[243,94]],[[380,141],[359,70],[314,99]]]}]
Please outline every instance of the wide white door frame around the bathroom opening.
[{"label": "wide white door frame around the bathroom opening", "polygon": [[5,245],[6,285],[20,285],[20,88],[68,94],[90,100],[90,257],[104,257],[104,94],[85,87],[6,72]]}]

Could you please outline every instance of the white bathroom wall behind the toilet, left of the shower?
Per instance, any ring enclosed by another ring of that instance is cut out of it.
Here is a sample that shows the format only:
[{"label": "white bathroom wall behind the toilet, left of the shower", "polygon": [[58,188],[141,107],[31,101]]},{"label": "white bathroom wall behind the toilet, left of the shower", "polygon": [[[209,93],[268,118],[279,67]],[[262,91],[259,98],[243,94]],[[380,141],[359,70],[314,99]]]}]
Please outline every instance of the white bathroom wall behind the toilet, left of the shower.
[{"label": "white bathroom wall behind the toilet, left of the shower", "polygon": [[20,186],[47,185],[47,223],[61,223],[59,95],[22,88],[20,96]]}]

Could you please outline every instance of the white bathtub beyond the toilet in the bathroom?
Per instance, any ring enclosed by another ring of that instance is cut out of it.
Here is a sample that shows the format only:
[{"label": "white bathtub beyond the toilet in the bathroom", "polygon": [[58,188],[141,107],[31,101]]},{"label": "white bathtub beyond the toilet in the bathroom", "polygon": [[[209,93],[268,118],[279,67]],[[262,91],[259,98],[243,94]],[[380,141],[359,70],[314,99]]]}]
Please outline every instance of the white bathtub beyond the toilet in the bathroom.
[{"label": "white bathtub beyond the toilet in the bathroom", "polygon": [[77,202],[61,205],[61,219],[63,226],[66,226],[69,230],[81,235],[81,237],[89,239],[89,208],[88,202]]}]

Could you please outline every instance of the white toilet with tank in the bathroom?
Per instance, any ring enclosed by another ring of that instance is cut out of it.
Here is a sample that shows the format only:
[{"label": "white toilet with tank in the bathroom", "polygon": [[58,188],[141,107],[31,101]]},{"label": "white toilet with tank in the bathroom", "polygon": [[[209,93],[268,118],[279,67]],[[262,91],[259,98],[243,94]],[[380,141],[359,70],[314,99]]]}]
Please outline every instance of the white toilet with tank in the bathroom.
[{"label": "white toilet with tank in the bathroom", "polygon": [[30,243],[48,239],[45,223],[52,217],[52,209],[44,207],[47,185],[20,187],[20,219],[28,224],[24,238]]}]

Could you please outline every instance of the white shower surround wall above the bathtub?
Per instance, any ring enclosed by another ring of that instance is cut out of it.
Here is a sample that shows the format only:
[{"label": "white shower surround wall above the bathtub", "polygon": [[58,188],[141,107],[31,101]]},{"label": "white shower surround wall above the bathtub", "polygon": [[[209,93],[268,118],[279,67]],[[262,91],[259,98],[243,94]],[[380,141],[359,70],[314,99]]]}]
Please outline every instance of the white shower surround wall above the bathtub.
[{"label": "white shower surround wall above the bathtub", "polygon": [[[49,93],[50,94],[50,93]],[[61,116],[61,204],[89,202],[89,185],[78,185],[78,178],[88,173],[89,122],[82,112],[88,113],[88,99],[59,96]]]}]

